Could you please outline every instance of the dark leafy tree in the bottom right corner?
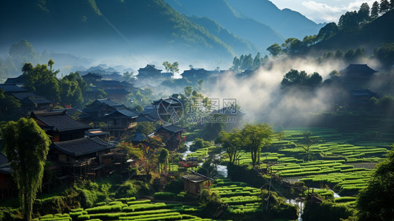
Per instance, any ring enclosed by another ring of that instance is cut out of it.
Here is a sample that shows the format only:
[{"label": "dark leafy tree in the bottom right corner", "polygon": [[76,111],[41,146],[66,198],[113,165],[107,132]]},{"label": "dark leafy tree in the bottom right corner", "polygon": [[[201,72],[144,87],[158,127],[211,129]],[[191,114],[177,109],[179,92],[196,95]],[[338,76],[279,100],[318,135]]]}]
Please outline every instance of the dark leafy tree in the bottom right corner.
[{"label": "dark leafy tree in the bottom right corner", "polygon": [[358,194],[359,220],[392,220],[394,217],[394,149],[376,165],[372,179]]}]

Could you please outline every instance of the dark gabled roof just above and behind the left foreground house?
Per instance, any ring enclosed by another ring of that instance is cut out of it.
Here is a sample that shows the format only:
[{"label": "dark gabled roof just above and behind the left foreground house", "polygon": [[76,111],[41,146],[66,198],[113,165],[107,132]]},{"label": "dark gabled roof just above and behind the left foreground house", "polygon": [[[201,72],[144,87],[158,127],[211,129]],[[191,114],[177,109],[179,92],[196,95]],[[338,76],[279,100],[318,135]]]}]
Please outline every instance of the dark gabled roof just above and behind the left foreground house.
[{"label": "dark gabled roof just above and behind the left foreground house", "polygon": [[79,130],[91,128],[88,124],[81,123],[72,119],[70,116],[63,112],[46,112],[36,114],[32,112],[32,118],[39,119],[39,121],[46,124],[45,128],[48,130],[57,130],[59,132],[68,130]]}]

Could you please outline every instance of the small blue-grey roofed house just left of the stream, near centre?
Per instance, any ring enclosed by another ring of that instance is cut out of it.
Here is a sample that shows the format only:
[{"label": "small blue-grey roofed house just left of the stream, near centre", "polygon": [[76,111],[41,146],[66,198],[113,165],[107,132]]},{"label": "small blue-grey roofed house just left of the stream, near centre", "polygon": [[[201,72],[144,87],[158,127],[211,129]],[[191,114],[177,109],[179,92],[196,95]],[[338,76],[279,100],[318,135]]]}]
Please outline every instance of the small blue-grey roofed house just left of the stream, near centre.
[{"label": "small blue-grey roofed house just left of the stream, near centre", "polygon": [[172,151],[182,145],[182,132],[184,128],[175,125],[160,126],[154,130],[154,135],[163,139],[165,148]]}]

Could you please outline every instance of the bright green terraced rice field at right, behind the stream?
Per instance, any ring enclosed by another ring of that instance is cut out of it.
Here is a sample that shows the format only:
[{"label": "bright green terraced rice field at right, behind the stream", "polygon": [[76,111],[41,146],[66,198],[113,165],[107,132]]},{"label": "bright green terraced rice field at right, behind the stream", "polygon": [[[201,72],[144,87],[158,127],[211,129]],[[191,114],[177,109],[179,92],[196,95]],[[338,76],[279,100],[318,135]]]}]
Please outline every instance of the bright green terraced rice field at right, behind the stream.
[{"label": "bright green terraced rice field at right, behind the stream", "polygon": [[[310,161],[306,161],[306,151],[301,145],[306,130],[296,128],[284,130],[282,139],[279,140],[277,136],[268,149],[264,147],[260,157],[260,161],[264,162],[261,167],[266,167],[268,161],[271,173],[283,178],[301,176],[303,178],[299,180],[305,182],[306,186],[327,185],[341,196],[354,196],[367,185],[373,169],[371,165],[362,167],[362,164],[375,165],[383,161],[394,138],[394,134],[387,133],[379,141],[363,141],[352,145],[355,133],[339,134],[327,128],[308,130],[312,138],[317,140],[310,147]],[[239,163],[250,165],[250,153],[241,152]]]}]

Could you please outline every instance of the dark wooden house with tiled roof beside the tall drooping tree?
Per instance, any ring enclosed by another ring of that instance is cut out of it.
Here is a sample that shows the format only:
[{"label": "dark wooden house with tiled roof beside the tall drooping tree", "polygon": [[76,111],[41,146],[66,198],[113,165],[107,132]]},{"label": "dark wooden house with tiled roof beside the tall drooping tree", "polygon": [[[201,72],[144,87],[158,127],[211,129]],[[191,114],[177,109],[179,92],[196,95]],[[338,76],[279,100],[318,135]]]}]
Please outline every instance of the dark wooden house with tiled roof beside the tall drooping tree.
[{"label": "dark wooden house with tiled roof beside the tall drooping tree", "polygon": [[[100,138],[79,138],[50,145],[48,159],[61,168],[60,178],[95,179],[100,178],[111,162],[103,161],[103,156],[115,148]],[[106,158],[106,157],[104,157]]]}]

